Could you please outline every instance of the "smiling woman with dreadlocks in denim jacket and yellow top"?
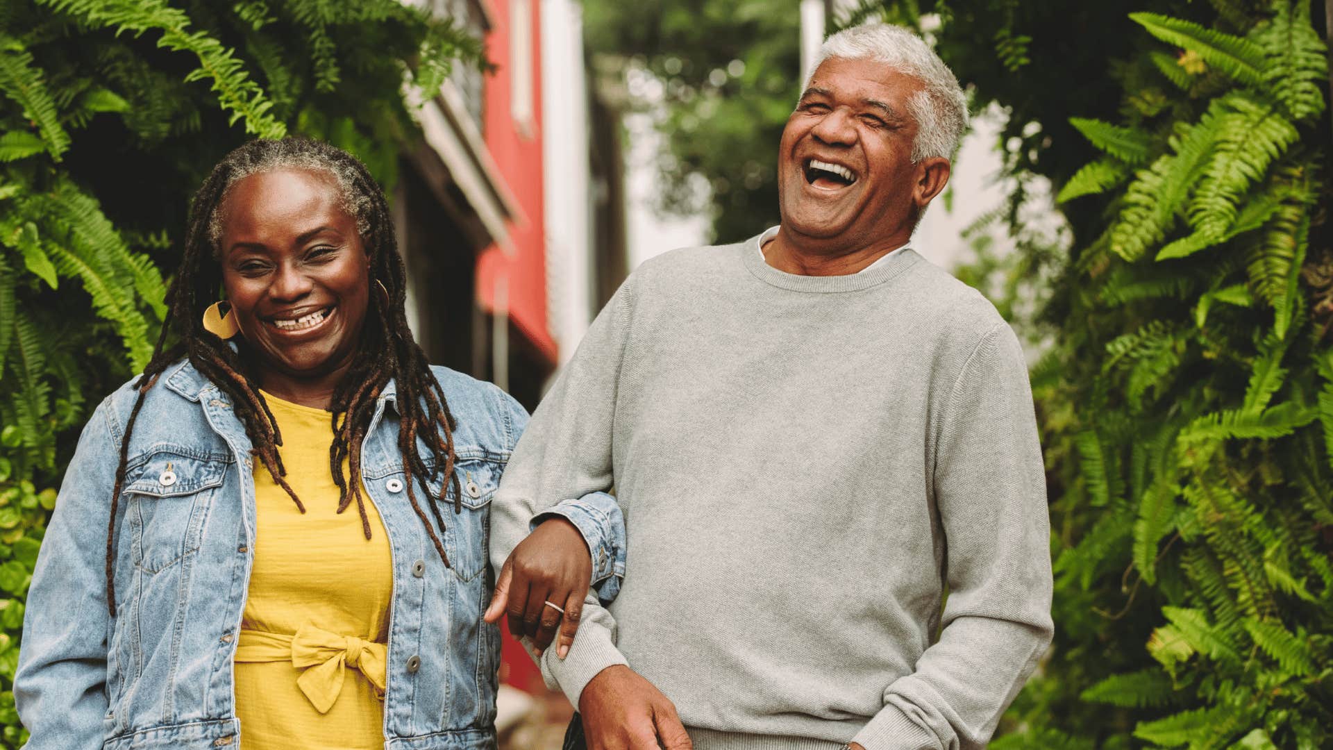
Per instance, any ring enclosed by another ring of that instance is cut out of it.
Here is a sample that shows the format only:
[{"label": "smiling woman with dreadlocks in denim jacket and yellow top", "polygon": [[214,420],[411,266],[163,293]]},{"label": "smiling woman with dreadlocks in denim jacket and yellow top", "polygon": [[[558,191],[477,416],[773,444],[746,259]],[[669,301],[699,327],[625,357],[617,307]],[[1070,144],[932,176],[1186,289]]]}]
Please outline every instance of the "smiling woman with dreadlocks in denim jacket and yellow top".
[{"label": "smiling woman with dreadlocks in denim jacket and yellow top", "polygon": [[[493,747],[488,504],[528,415],[427,364],[365,167],[303,139],[228,155],[169,304],[47,530],[15,678],[28,747]],[[539,646],[589,550],[620,552],[599,510],[512,566]]]}]

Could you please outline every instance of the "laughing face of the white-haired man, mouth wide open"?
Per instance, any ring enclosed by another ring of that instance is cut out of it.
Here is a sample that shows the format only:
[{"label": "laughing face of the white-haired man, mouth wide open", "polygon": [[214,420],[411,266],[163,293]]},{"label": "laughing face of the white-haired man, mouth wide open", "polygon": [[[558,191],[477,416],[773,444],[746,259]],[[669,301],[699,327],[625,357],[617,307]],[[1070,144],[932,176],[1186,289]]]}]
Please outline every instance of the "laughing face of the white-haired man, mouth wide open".
[{"label": "laughing face of the white-haired man, mouth wide open", "polygon": [[918,212],[944,187],[929,179],[928,167],[944,161],[948,179],[948,160],[912,163],[917,123],[908,101],[922,88],[920,79],[885,63],[830,57],[820,64],[782,129],[784,230],[846,250],[894,235],[906,242]]}]

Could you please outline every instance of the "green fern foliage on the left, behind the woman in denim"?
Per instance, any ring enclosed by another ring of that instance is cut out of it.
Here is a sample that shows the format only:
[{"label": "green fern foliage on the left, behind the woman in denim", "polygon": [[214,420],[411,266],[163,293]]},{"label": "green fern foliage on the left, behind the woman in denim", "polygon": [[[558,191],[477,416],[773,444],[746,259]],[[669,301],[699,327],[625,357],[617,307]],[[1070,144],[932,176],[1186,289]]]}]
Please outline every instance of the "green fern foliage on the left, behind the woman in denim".
[{"label": "green fern foliage on the left, behind the woman in denim", "polygon": [[91,407],[151,356],[191,192],[287,132],[392,181],[420,137],[404,83],[437,91],[479,56],[397,0],[0,8],[0,747],[25,739],[11,686],[53,487]]}]

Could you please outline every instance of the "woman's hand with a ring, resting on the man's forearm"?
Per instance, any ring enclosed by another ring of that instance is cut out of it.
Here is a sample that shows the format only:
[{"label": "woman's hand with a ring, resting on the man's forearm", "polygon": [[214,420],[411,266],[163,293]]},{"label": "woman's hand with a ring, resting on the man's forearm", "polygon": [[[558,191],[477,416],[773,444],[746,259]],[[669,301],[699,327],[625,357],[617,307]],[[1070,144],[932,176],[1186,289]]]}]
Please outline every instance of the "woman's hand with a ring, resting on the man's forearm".
[{"label": "woman's hand with a ring, resting on the man's forearm", "polygon": [[563,659],[575,642],[591,581],[592,555],[583,534],[564,518],[552,518],[537,526],[505,559],[483,619],[493,623],[508,613],[509,633],[516,638],[532,638],[539,657],[551,646],[559,627],[556,654]]}]

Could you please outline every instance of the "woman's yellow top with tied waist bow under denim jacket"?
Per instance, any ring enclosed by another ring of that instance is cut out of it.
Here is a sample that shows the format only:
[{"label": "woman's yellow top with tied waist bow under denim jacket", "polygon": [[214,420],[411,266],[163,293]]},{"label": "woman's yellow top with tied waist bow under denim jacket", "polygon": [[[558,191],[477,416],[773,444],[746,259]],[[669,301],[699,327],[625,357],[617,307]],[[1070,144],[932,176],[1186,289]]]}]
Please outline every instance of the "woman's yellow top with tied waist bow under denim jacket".
[{"label": "woman's yellow top with tied waist bow under denim jacket", "polygon": [[264,394],[283,431],[287,482],[255,462],[255,569],[236,649],[243,750],[384,747],[393,566],[369,498],[337,512],[332,414]]}]

